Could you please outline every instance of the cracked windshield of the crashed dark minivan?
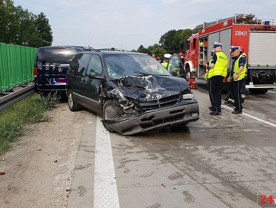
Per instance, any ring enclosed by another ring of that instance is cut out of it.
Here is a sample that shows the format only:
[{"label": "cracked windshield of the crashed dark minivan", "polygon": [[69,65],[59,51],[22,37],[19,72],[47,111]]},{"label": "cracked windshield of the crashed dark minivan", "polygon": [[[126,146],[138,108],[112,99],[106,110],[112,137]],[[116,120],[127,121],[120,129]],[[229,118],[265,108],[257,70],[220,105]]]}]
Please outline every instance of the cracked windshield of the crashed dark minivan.
[{"label": "cracked windshield of the crashed dark minivan", "polygon": [[104,56],[110,78],[124,76],[159,75],[171,76],[162,64],[143,54],[107,54]]}]

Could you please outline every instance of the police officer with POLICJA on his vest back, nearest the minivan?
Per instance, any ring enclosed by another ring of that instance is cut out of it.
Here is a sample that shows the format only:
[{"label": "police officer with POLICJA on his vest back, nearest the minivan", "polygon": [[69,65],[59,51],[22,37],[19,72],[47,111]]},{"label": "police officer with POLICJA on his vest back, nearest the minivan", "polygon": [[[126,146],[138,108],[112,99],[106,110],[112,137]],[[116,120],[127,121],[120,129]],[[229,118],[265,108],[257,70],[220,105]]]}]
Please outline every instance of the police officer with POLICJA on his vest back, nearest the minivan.
[{"label": "police officer with POLICJA on his vest back, nearest the minivan", "polygon": [[227,56],[221,51],[222,45],[220,42],[214,42],[215,53],[210,66],[208,66],[209,96],[213,108],[211,109],[213,111],[210,112],[211,115],[221,114],[223,78],[226,77],[228,65]]}]

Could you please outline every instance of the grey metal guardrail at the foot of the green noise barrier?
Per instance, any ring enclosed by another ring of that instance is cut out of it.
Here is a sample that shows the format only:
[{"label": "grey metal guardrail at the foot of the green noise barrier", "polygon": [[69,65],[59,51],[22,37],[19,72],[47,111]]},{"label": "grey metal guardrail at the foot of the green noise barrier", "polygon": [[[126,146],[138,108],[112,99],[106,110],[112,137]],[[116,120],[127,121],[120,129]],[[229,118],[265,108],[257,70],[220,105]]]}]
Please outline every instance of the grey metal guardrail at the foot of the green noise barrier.
[{"label": "grey metal guardrail at the foot of the green noise barrier", "polygon": [[35,84],[29,85],[0,98],[0,112],[35,93]]}]

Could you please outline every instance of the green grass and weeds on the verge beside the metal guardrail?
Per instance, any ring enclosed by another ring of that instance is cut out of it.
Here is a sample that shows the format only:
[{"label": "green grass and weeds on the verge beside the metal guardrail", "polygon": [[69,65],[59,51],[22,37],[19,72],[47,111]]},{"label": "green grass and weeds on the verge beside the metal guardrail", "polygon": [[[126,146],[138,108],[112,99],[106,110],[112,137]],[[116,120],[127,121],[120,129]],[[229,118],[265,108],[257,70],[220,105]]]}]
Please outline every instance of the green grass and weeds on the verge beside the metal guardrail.
[{"label": "green grass and weeds on the verge beside the metal guardrail", "polygon": [[25,131],[26,124],[50,121],[45,112],[55,107],[57,94],[41,97],[32,95],[0,112],[0,155]]}]

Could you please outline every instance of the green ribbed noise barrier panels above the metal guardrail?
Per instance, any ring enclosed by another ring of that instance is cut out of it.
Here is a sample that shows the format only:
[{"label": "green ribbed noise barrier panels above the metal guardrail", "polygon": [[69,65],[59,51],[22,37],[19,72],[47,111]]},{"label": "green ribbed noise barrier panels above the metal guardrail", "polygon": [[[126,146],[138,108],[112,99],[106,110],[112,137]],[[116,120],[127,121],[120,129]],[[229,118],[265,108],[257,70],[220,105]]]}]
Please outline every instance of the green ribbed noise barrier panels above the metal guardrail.
[{"label": "green ribbed noise barrier panels above the metal guardrail", "polygon": [[34,80],[36,48],[0,43],[0,93]]}]

